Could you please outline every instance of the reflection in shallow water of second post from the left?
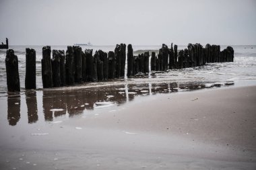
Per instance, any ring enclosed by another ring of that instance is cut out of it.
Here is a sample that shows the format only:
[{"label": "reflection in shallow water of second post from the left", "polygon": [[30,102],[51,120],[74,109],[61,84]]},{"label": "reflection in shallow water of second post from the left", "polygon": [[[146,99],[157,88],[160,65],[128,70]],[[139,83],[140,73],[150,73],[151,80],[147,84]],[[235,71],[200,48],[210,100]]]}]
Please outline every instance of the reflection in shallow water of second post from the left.
[{"label": "reflection in shallow water of second post from the left", "polygon": [[28,123],[38,121],[36,91],[26,91],[26,103],[28,107]]}]

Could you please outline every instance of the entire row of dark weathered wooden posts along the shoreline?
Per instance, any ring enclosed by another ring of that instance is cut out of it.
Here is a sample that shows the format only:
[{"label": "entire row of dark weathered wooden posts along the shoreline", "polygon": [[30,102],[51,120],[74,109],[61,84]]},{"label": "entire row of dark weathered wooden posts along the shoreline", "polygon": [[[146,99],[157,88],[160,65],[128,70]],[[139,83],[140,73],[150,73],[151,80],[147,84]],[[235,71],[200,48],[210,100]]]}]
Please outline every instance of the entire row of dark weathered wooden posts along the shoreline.
[{"label": "entire row of dark weathered wooden posts along the shoreline", "polygon": [[[131,44],[127,46],[127,77],[138,73],[151,71],[166,71],[167,69],[185,69],[187,67],[200,67],[209,62],[232,62],[234,50],[231,46],[220,51],[220,46],[207,44],[189,44],[185,50],[171,45],[170,48],[162,44],[158,56],[152,52],[144,52],[133,56]],[[107,79],[124,78],[126,63],[126,45],[117,44],[115,52],[108,54],[97,50],[82,50],[79,46],[67,46],[64,50],[53,50],[51,46],[42,48],[42,85],[44,88],[63,87],[83,82],[106,81]],[[14,51],[6,52],[5,66],[7,73],[8,91],[20,91],[20,77],[18,71],[18,57]],[[26,48],[26,89],[36,89],[36,51]]]}]

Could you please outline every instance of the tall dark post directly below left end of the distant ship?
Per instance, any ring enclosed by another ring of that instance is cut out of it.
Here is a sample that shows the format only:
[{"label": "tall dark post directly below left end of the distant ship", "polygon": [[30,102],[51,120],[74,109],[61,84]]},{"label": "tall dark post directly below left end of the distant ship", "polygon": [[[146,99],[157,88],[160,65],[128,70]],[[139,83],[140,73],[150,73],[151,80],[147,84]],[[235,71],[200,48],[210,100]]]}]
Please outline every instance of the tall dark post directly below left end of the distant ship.
[{"label": "tall dark post directly below left end of the distant ship", "polygon": [[75,83],[82,83],[82,48],[73,46]]}]

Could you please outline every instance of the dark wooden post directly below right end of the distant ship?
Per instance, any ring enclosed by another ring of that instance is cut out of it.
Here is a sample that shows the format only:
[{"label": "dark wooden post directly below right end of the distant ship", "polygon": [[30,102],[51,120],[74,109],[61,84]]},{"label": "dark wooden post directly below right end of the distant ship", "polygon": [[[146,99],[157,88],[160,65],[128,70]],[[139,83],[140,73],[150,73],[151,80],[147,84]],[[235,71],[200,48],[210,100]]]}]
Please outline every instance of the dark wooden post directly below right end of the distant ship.
[{"label": "dark wooden post directly below right end of the distant ship", "polygon": [[94,65],[94,58],[92,56],[92,50],[86,49],[84,51],[86,54],[86,81],[93,81],[92,80],[92,73],[93,73],[93,65]]}]

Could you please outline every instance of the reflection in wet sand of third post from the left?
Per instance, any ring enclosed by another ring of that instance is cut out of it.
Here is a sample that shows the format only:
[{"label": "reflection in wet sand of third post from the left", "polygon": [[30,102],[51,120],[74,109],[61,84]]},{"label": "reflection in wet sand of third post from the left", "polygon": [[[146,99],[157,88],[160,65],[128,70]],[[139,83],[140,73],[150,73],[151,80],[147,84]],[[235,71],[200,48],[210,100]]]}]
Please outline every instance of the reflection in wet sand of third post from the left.
[{"label": "reflection in wet sand of third post from the left", "polygon": [[42,110],[44,112],[45,121],[53,121],[53,112],[50,110],[53,109],[53,100],[55,96],[47,91],[42,91]]}]

